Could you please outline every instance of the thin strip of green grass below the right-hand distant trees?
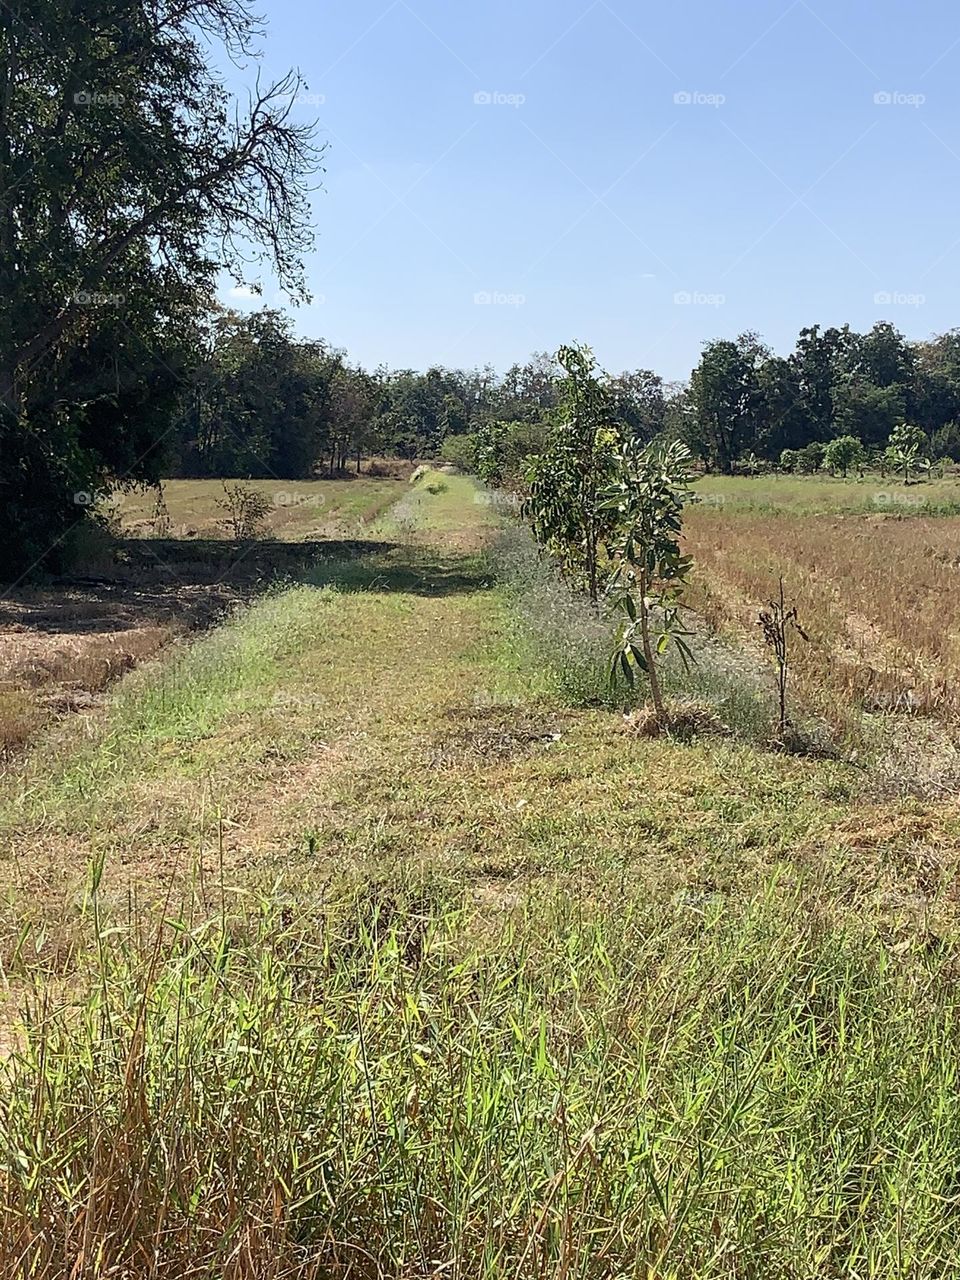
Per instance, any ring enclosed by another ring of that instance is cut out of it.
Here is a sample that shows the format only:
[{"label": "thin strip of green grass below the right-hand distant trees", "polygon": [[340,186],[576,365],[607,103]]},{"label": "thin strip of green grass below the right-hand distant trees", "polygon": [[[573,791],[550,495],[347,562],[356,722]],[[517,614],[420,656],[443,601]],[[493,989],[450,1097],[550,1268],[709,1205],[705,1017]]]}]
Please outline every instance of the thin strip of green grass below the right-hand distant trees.
[{"label": "thin strip of green grass below the right-hand distant trees", "polygon": [[694,485],[704,506],[724,515],[786,511],[795,515],[960,515],[960,476],[905,485],[891,476],[704,476]]}]

